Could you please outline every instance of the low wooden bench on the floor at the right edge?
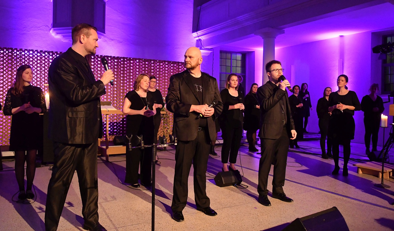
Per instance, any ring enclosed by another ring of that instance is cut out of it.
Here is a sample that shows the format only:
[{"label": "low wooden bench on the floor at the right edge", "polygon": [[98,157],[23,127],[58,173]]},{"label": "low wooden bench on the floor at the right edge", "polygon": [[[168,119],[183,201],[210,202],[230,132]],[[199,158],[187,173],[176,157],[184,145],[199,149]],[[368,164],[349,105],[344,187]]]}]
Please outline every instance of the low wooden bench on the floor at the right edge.
[{"label": "low wooden bench on the floor at the right edge", "polygon": [[[359,174],[364,173],[364,174],[373,175],[382,178],[381,162],[372,161],[365,163],[357,163],[357,164],[353,164],[353,166],[357,166],[357,173]],[[387,179],[390,178],[393,169],[394,169],[394,165],[385,163],[383,170],[383,177]]]}]

